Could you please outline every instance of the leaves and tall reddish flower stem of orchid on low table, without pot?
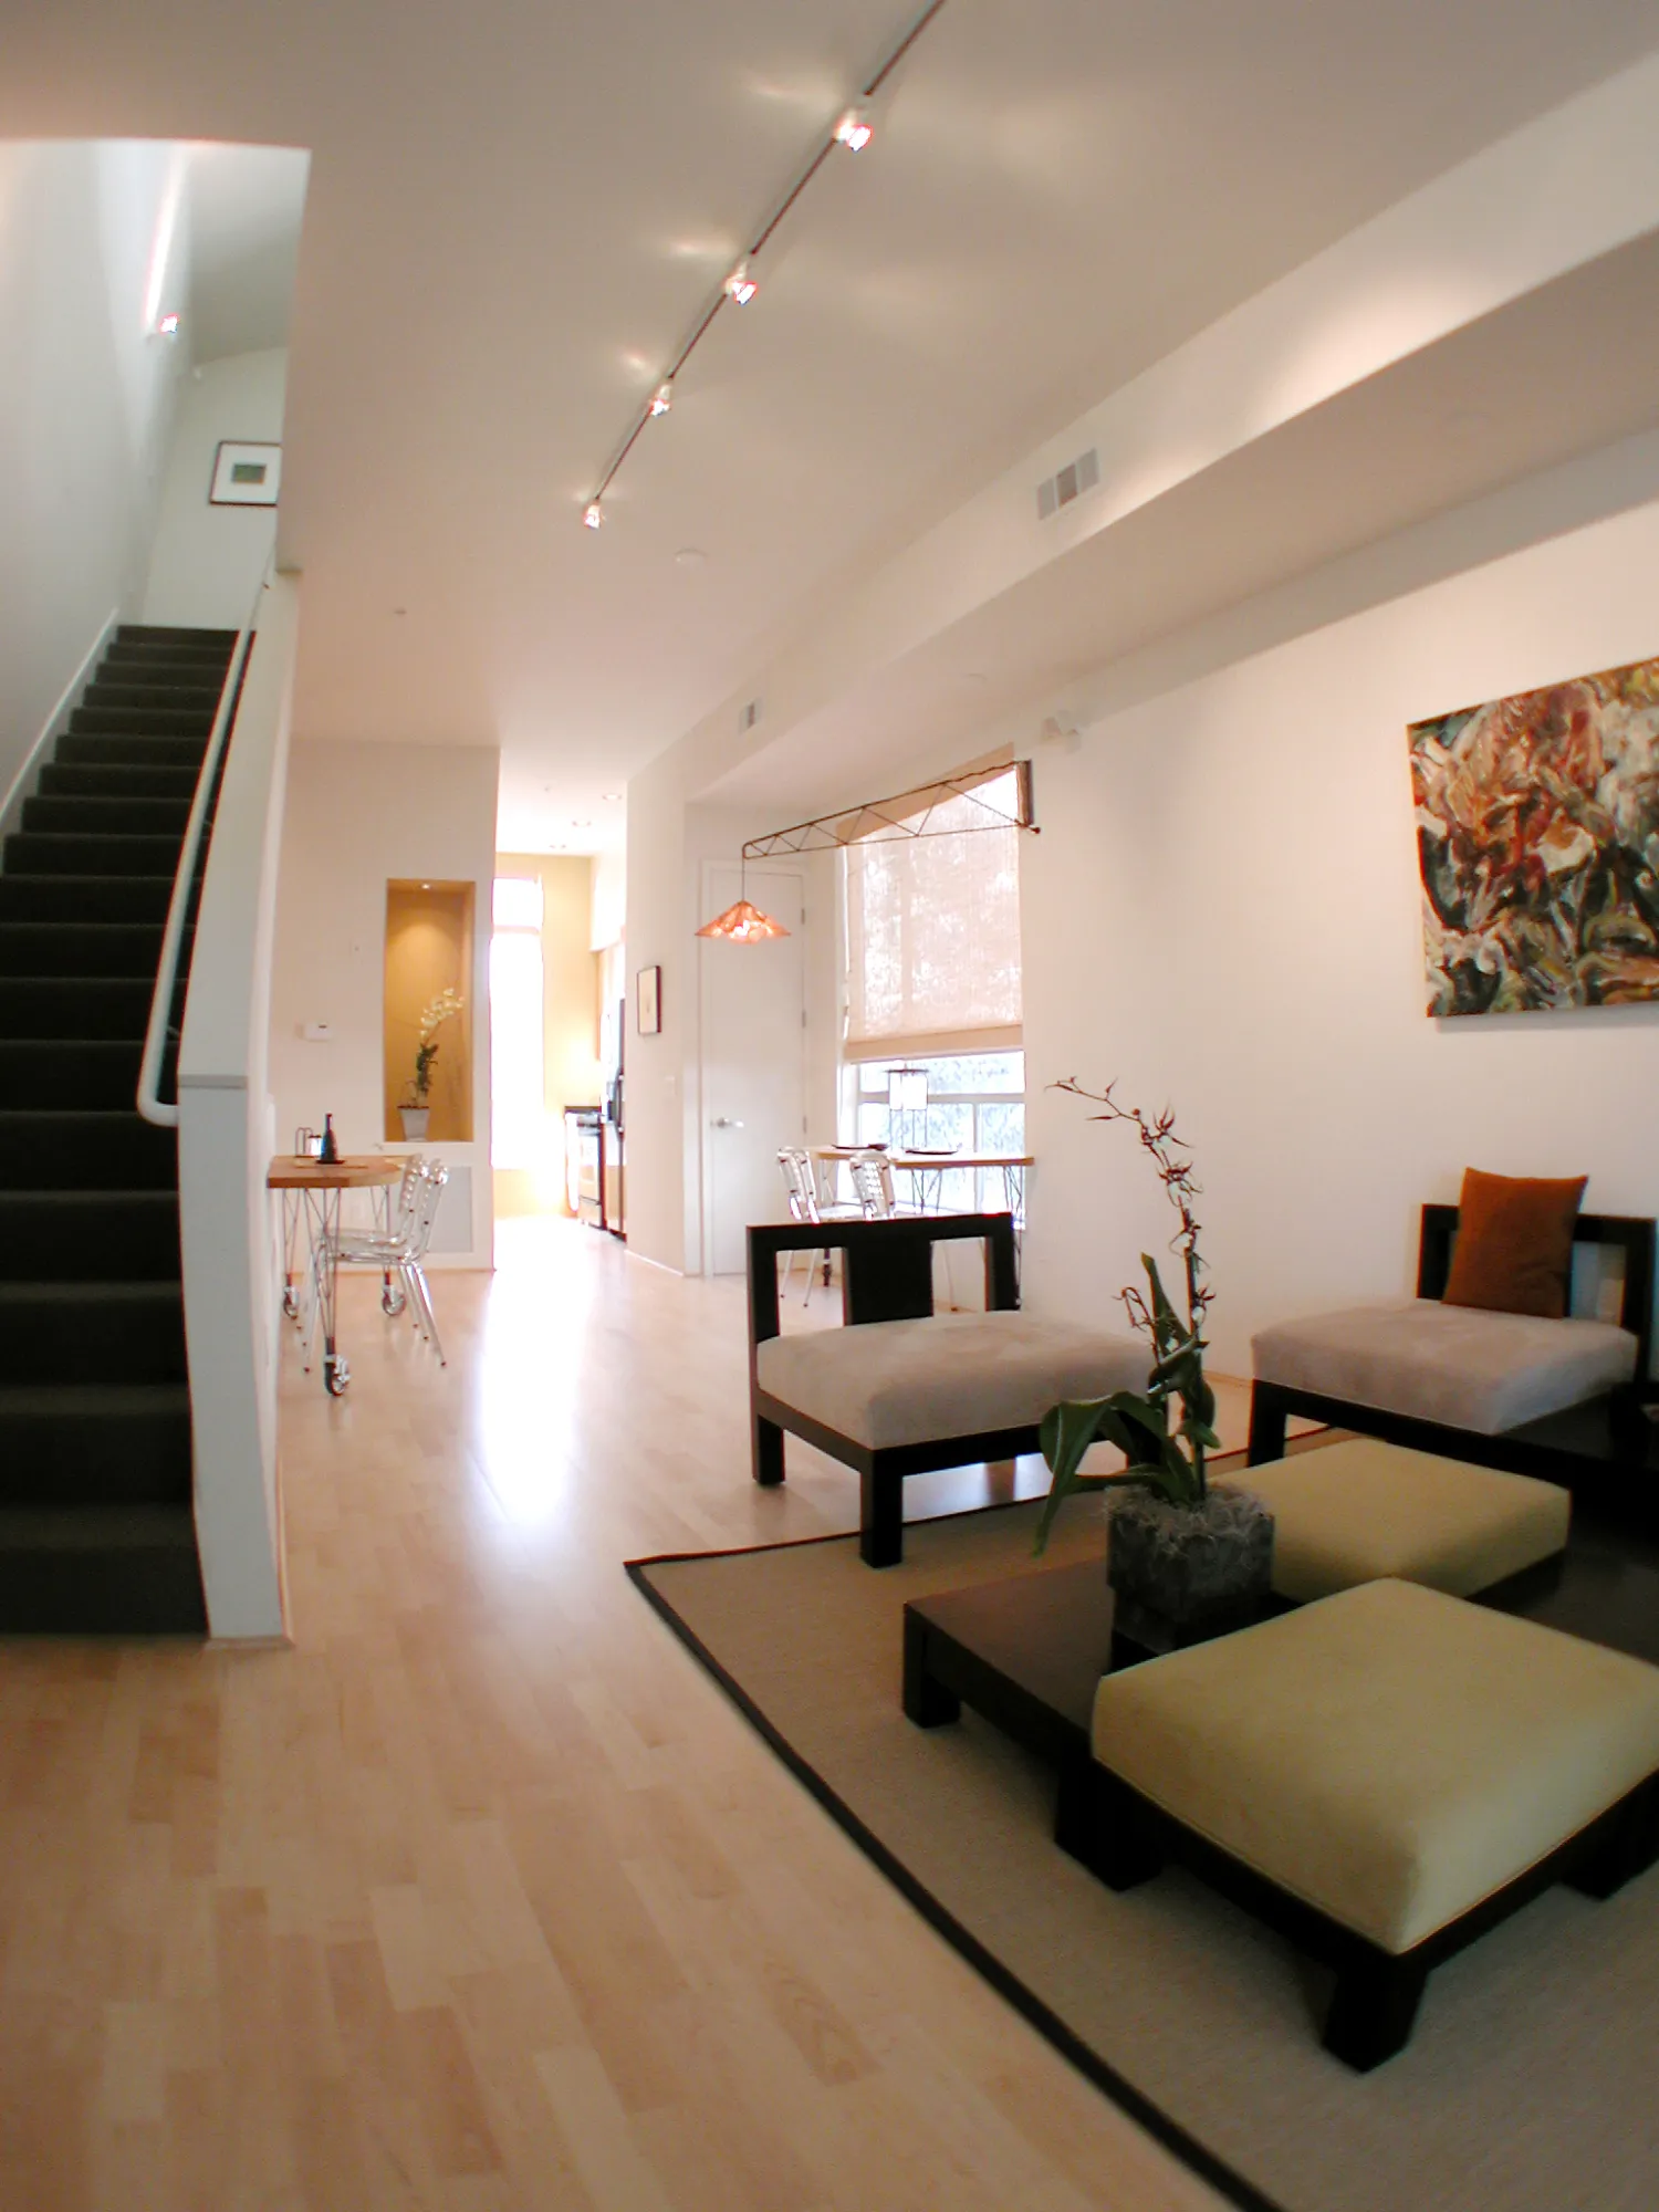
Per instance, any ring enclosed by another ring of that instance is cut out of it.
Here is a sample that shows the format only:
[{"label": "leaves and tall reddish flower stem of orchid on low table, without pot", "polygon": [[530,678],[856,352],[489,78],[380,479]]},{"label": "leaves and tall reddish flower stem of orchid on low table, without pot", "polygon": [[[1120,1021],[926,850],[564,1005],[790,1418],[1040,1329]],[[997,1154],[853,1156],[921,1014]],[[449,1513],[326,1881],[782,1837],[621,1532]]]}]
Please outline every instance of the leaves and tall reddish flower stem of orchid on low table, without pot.
[{"label": "leaves and tall reddish flower stem of orchid on low table, without pot", "polygon": [[[1212,1292],[1199,1256],[1199,1223],[1192,1201],[1201,1197],[1192,1179],[1188,1146],[1175,1133],[1175,1115],[1166,1108],[1146,1115],[1139,1106],[1119,1106],[1113,1084],[1086,1091],[1075,1077],[1055,1084],[1104,1108],[1093,1121],[1128,1121],[1144,1150],[1152,1155],[1164,1192],[1181,1217],[1170,1250],[1186,1276],[1186,1316],[1170,1303],[1157,1272],[1157,1261],[1141,1252],[1146,1290],[1119,1292],[1130,1325],[1152,1343],[1152,1369],[1144,1391],[1119,1389],[1110,1398],[1079,1398],[1048,1407],[1042,1416],[1042,1455],[1053,1482],[1037,1522],[1035,1548],[1044,1551],[1055,1513],[1073,1491],[1104,1491],[1113,1484],[1152,1489],[1177,1506],[1201,1506],[1208,1495],[1206,1453],[1219,1451],[1214,1433],[1214,1391],[1203,1378],[1203,1314]],[[1179,1409],[1179,1418],[1172,1416]],[[1091,1444],[1117,1444],[1128,1464],[1110,1475],[1084,1475],[1082,1460]]]}]

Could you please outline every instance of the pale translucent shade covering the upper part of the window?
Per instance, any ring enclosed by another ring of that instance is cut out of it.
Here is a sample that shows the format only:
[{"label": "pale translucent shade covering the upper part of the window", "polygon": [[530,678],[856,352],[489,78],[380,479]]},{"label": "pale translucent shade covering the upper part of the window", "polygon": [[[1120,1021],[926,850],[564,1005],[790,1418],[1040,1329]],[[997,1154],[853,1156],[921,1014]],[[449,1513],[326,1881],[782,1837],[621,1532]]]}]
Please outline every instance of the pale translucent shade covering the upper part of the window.
[{"label": "pale translucent shade covering the upper part of the window", "polygon": [[[916,799],[920,814],[929,796]],[[987,807],[1009,827],[987,830]],[[931,805],[927,836],[845,847],[847,1060],[1020,1048],[1022,812],[1024,776],[1009,768]]]}]

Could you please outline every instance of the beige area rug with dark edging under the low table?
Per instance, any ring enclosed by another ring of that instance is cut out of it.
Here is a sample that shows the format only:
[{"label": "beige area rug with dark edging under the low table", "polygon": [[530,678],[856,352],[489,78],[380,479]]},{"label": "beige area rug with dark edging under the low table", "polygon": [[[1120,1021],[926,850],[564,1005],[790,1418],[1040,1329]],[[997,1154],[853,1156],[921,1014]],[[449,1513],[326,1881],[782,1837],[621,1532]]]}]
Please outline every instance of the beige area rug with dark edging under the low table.
[{"label": "beige area rug with dark edging under the low table", "polygon": [[[1371,2075],[1321,2051],[1329,1978],[1197,1878],[1115,1896],[1053,1845],[1053,1778],[964,1708],[902,1717],[905,1599],[1035,1571],[1035,1504],[630,1575],[920,1911],[1077,2066],[1239,2205],[1652,2212],[1659,1869],[1551,1889],[1429,1980]],[[1042,1564],[1102,1551],[1093,1500]]]}]

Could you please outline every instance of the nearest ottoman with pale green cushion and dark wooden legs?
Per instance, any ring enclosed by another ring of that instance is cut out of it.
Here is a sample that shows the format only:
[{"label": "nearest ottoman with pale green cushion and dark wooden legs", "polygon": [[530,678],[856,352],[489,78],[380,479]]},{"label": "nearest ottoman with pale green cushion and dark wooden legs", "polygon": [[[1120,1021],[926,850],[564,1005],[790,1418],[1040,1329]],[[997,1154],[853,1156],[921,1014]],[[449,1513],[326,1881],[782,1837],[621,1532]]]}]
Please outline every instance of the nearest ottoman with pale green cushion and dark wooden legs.
[{"label": "nearest ottoman with pale green cushion and dark wooden legs", "polygon": [[1659,1668],[1409,1582],[1106,1674],[1093,1750],[1095,1869],[1172,1851],[1323,1955],[1349,2066],[1548,1882],[1610,1896],[1659,1854]]}]

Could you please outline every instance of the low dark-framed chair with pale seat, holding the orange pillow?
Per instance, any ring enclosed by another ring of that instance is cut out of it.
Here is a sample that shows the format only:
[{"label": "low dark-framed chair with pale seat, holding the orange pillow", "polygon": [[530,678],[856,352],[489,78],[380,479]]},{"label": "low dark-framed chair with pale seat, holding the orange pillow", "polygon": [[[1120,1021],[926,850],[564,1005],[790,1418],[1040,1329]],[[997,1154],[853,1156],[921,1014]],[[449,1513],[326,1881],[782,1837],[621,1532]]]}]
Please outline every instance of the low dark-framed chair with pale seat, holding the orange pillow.
[{"label": "low dark-framed chair with pale seat, holding the orange pillow", "polygon": [[1442,1305],[1455,1232],[1455,1206],[1422,1208],[1416,1298],[1281,1321],[1252,1336],[1252,1464],[1283,1458],[1285,1420],[1305,1413],[1513,1473],[1577,1471],[1577,1451],[1548,1422],[1597,1402],[1619,1411],[1646,1380],[1652,1221],[1577,1217],[1577,1248],[1624,1256],[1617,1325]]}]

